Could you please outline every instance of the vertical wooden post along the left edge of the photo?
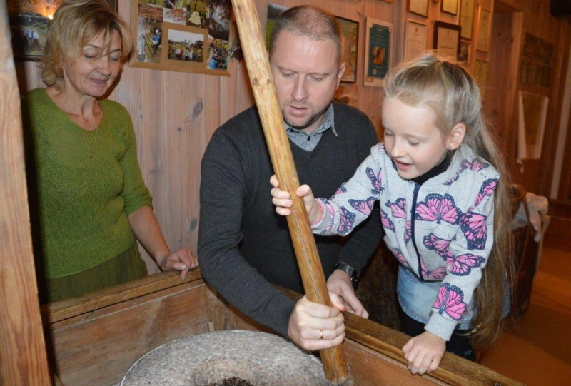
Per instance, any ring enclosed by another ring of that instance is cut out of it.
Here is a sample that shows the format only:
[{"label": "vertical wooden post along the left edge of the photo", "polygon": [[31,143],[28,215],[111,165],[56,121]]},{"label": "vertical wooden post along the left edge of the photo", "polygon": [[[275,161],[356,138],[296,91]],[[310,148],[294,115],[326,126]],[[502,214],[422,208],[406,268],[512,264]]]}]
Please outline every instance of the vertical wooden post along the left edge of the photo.
[{"label": "vertical wooden post along the left edge of the photo", "polygon": [[0,385],[49,385],[6,1],[0,1],[0,90]]}]

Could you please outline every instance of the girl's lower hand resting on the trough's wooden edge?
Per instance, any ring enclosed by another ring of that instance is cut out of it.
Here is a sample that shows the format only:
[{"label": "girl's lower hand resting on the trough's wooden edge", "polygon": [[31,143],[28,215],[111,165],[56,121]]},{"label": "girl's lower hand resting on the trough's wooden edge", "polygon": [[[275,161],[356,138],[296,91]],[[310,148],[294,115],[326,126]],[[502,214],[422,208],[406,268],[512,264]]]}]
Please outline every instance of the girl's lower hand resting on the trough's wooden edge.
[{"label": "girl's lower hand resting on the trough's wooden edge", "polygon": [[408,370],[419,375],[436,370],[445,350],[445,340],[428,331],[413,337],[403,346]]}]

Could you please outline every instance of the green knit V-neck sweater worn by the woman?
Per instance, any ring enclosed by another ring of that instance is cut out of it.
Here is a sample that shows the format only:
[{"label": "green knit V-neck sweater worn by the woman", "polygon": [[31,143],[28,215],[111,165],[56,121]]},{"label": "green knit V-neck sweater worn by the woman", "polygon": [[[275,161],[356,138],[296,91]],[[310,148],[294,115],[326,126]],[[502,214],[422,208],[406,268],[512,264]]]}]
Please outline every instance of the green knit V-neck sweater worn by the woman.
[{"label": "green knit V-neck sweater worn by the woman", "polygon": [[97,130],[85,131],[44,88],[30,91],[26,99],[43,273],[60,278],[105,263],[133,245],[128,215],[151,205],[151,195],[123,106],[100,101],[103,121]]}]

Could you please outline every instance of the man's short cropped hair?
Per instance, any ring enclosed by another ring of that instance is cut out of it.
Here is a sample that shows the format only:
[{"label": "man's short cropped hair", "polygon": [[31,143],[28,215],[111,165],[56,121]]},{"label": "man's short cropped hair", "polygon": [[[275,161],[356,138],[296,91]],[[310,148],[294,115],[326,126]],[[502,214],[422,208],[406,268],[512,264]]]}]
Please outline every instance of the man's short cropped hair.
[{"label": "man's short cropped hair", "polygon": [[343,29],[338,19],[318,6],[294,6],[278,16],[270,36],[270,56],[281,31],[307,36],[312,40],[332,40],[337,46],[337,61],[340,64],[343,52]]}]

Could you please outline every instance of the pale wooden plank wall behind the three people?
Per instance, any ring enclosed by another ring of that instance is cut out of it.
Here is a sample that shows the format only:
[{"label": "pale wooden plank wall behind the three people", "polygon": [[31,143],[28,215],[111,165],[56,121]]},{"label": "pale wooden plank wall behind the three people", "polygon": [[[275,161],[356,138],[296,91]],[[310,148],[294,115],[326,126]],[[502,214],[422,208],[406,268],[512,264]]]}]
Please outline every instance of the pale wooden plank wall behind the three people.
[{"label": "pale wooden plank wall behind the three people", "polygon": [[[493,11],[494,1],[479,0],[478,5]],[[351,93],[350,104],[370,116],[380,128],[380,103],[383,93],[380,88],[363,84],[363,61],[365,53],[365,17],[373,17],[395,24],[395,53],[393,64],[403,57],[403,36],[406,19],[427,24],[427,49],[432,48],[433,21],[442,20],[458,24],[459,15],[440,11],[440,2],[430,1],[429,17],[424,18],[406,11],[405,0],[393,3],[382,0],[273,0],[275,4],[296,6],[315,4],[333,14],[360,21],[359,58],[357,83],[341,83],[340,93]],[[540,173],[552,166],[555,155],[555,133],[560,111],[562,86],[557,82],[566,68],[570,28],[565,21],[549,14],[549,0],[505,0],[506,4],[522,9],[525,15],[524,28],[556,46],[555,71],[552,87],[545,92],[550,95],[545,145],[541,161],[526,161],[525,173],[516,176],[516,181],[525,184],[529,191],[546,195],[550,186],[550,173]],[[119,1],[119,12],[130,20],[131,2]],[[261,23],[266,24],[268,0],[256,0]],[[477,16],[477,8],[475,17]],[[477,23],[474,23],[473,36]],[[565,42],[565,44],[563,43]],[[488,60],[488,54],[475,51],[474,59]],[[565,64],[565,66],[563,66]],[[16,64],[21,91],[42,86],[39,68],[33,62]],[[109,98],[126,106],[133,118],[138,138],[138,159],[143,178],[153,195],[153,205],[158,223],[171,249],[190,248],[196,252],[198,239],[198,191],[200,163],[204,149],[218,126],[232,116],[253,105],[246,66],[234,62],[230,77],[194,75],[168,71],[155,71],[125,66],[121,81]],[[555,106],[558,106],[555,108]],[[503,130],[503,129],[502,129]],[[145,255],[143,253],[143,255]],[[151,273],[157,272],[153,263],[148,263]]]}]

